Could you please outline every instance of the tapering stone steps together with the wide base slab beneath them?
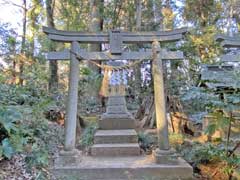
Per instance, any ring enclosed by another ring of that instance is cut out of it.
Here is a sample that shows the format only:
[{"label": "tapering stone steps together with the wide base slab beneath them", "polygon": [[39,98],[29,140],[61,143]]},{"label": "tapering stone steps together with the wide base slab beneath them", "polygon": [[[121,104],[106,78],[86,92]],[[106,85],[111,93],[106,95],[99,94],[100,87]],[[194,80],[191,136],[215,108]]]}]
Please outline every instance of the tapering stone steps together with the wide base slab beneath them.
[{"label": "tapering stone steps together with the wide base slab beneath them", "polygon": [[193,173],[180,157],[174,157],[174,164],[168,160],[156,163],[154,155],[140,154],[134,119],[126,109],[124,97],[109,98],[94,135],[91,155],[81,154],[67,163],[63,158],[55,160],[53,169],[61,180],[190,180]]}]

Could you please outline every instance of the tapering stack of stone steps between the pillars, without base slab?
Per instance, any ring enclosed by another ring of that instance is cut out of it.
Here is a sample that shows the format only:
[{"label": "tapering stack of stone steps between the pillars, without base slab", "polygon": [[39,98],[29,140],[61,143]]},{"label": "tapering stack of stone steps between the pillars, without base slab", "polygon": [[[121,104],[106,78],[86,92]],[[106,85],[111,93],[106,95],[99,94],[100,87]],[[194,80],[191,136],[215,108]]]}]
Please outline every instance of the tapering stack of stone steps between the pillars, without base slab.
[{"label": "tapering stack of stone steps between the pillars, without base slab", "polygon": [[134,119],[127,111],[123,96],[109,97],[107,110],[99,120],[99,130],[94,135],[92,156],[140,155]]}]

